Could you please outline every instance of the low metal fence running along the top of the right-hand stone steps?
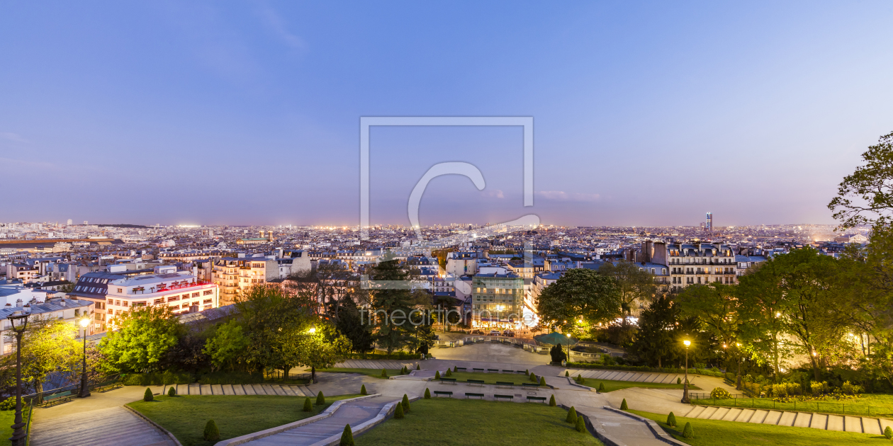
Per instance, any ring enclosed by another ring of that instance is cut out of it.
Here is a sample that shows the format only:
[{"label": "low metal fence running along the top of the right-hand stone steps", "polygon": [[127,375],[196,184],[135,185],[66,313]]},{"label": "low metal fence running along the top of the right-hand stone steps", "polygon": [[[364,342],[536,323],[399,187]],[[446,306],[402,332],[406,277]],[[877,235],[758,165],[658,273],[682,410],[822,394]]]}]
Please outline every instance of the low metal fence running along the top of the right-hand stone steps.
[{"label": "low metal fence running along the top of the right-hand stone steps", "polygon": [[710,393],[689,392],[689,401],[699,406],[724,406],[744,409],[773,409],[800,412],[822,412],[840,415],[862,415],[867,417],[893,416],[893,408],[868,404],[850,404],[839,401],[775,401],[772,398],[750,398],[747,395],[732,395],[730,399],[715,399]]}]

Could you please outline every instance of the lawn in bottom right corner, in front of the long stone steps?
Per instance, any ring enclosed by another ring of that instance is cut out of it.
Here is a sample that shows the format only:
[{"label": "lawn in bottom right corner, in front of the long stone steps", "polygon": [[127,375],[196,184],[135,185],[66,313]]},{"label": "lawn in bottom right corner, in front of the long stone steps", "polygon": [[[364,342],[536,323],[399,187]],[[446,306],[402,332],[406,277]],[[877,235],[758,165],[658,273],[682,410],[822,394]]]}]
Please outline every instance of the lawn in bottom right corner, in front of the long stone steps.
[{"label": "lawn in bottom right corner, in front of the long stone steps", "polygon": [[[883,435],[855,434],[851,432],[822,431],[810,427],[783,425],[755,425],[734,421],[705,420],[676,417],[676,428],[666,425],[667,416],[630,410],[630,413],[655,420],[663,430],[680,442],[694,446],[839,446],[841,444],[889,444]],[[682,438],[682,428],[691,423],[695,438]],[[883,440],[884,443],[878,440]]]}]

